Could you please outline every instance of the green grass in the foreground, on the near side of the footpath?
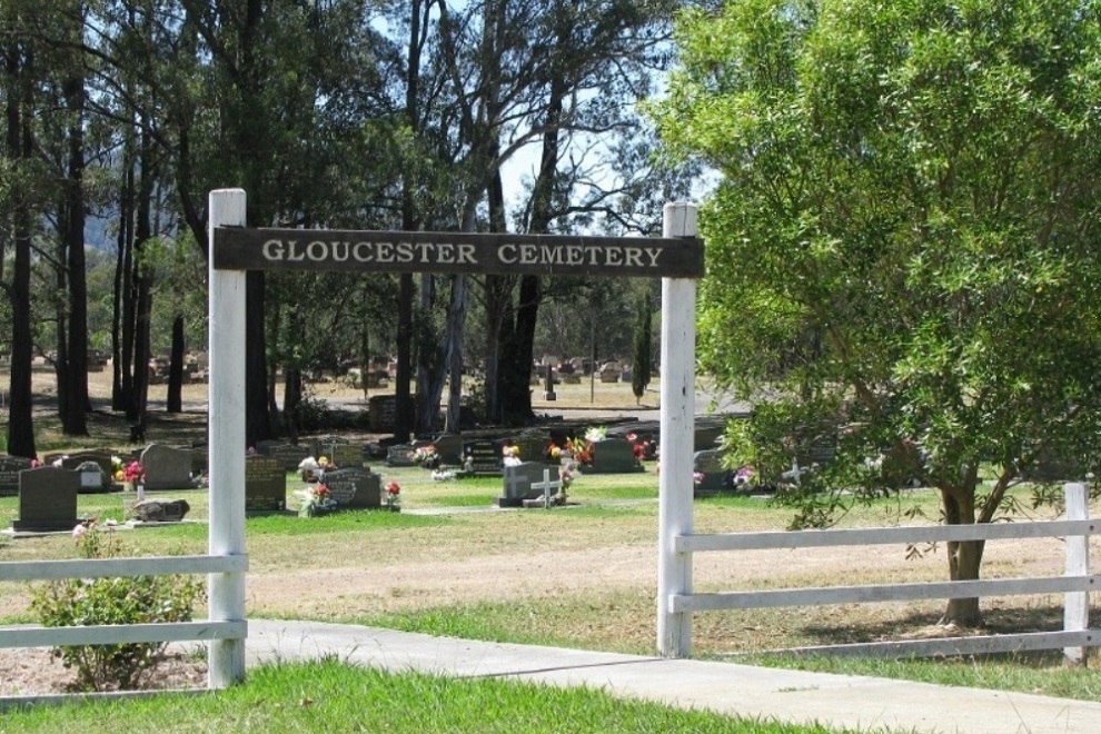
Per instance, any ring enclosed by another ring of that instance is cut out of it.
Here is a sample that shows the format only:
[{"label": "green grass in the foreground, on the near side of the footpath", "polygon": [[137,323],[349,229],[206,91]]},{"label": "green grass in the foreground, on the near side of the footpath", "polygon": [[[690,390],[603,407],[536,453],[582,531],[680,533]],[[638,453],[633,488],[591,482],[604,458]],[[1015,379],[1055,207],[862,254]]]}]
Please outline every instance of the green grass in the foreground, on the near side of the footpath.
[{"label": "green grass in the foreground, on the near side of the footpath", "polygon": [[0,732],[66,732],[89,722],[125,722],[127,732],[819,732],[614,698],[585,688],[514,681],[388,674],[336,659],[278,664],[200,696],[166,694],[10,711]]}]

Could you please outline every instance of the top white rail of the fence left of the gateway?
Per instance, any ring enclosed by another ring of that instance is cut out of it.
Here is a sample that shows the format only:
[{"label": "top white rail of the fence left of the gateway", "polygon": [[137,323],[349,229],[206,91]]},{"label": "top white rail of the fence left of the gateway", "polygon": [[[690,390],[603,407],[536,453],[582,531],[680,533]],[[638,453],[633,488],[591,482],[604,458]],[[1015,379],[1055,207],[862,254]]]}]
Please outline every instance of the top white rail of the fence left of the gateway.
[{"label": "top white rail of the fence left of the gateway", "polygon": [[172,574],[241,573],[246,556],[163,556],[93,561],[23,561],[0,563],[0,581],[98,578],[103,576],[168,576]]}]

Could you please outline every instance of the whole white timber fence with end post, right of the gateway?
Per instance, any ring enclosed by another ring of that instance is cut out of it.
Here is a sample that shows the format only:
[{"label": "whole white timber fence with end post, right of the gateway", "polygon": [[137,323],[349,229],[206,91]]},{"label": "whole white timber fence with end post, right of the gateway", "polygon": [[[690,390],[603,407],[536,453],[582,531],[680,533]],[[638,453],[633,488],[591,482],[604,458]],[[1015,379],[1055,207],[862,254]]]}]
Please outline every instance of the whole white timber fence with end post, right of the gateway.
[{"label": "whole white timber fence with end post, right of the gateway", "polygon": [[[929,656],[1062,647],[1069,661],[1081,662],[1084,659],[1085,647],[1101,645],[1101,631],[1089,628],[1089,593],[1101,584],[1101,576],[1089,573],[1089,538],[1098,533],[1098,524],[1088,519],[1088,493],[1083,485],[1067,485],[1065,495],[1067,515],[1070,519],[1064,520],[844,530],[684,534],[672,538],[673,554],[687,558],[691,568],[693,554],[705,552],[1062,537],[1067,538],[1067,565],[1062,576],[707,594],[693,593],[690,586],[682,593],[666,592],[667,608],[672,614],[685,615],[685,619],[688,619],[691,618],[688,615],[694,612],[717,609],[1064,594],[1062,632],[832,645],[813,649],[842,655]],[[691,578],[691,572],[688,577]],[[691,625],[688,628],[691,629]],[[686,655],[688,649],[686,645],[682,652]]]}]

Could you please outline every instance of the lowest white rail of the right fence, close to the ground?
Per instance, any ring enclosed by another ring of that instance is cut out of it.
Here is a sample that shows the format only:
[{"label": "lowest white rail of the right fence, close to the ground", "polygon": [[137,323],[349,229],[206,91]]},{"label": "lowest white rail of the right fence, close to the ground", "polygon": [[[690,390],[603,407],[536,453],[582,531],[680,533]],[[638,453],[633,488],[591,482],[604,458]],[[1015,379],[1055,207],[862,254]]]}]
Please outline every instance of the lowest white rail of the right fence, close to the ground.
[{"label": "lowest white rail of the right fence, close to the ground", "polygon": [[1025,632],[1018,635],[983,635],[938,639],[900,639],[852,645],[793,647],[785,655],[831,655],[833,657],[932,657],[940,655],[985,655],[1057,649],[1064,645],[1097,647],[1101,635],[1090,632]]}]

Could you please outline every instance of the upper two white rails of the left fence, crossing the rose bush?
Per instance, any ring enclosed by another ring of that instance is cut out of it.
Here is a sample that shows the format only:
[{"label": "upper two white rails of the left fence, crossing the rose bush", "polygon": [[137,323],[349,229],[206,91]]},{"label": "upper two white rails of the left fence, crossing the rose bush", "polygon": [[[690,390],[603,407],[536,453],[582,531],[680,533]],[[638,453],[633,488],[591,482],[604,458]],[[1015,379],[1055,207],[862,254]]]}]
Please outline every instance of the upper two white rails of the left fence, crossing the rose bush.
[{"label": "upper two white rails of the left fence, crossing the rose bush", "polygon": [[[166,576],[172,574],[245,573],[248,557],[158,556],[81,561],[23,561],[0,563],[0,581],[51,581],[106,576]],[[0,627],[0,648],[62,647],[214,639],[245,639],[244,619],[209,619],[138,625],[89,625],[81,627]]]}]

